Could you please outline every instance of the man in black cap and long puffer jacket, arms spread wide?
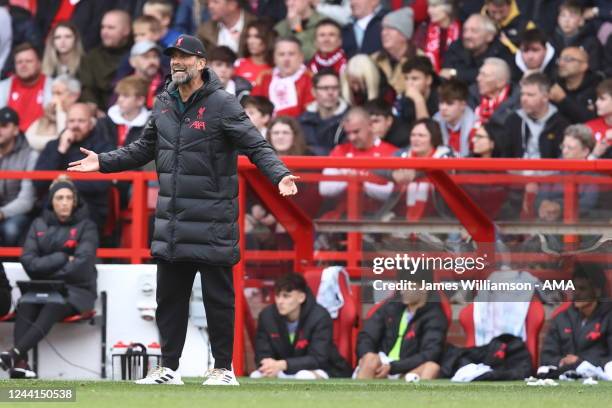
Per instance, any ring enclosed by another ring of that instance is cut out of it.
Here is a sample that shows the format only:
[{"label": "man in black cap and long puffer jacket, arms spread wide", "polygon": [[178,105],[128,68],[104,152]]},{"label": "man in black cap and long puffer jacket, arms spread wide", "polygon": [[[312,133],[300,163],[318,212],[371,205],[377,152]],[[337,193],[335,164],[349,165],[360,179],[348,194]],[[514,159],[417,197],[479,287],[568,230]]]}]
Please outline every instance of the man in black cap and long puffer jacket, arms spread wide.
[{"label": "man in black cap and long puffer jacket, arms spread wide", "polygon": [[[100,154],[82,149],[73,171],[111,173],[155,160],[159,198],[151,253],[157,267],[157,325],[162,364],[141,384],[182,384],[175,372],[187,331],[189,295],[201,271],[215,369],[205,385],[238,385],[231,370],[234,339],[232,266],[238,246],[238,152],[278,185],[297,193],[294,179],[249,121],[236,98],[206,68],[202,42],[181,35],[164,51],[172,69],[140,139]],[[172,80],[170,80],[172,79]]]}]

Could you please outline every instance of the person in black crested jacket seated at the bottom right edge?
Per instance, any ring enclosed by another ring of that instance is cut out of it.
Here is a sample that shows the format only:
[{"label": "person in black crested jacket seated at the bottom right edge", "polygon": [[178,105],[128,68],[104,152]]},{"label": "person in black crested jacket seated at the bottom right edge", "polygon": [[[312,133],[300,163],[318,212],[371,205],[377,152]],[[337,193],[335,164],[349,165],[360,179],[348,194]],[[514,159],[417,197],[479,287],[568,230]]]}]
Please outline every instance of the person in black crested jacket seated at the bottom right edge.
[{"label": "person in black crested jacket seated at the bottom right edge", "polygon": [[612,313],[605,301],[605,273],[600,265],[579,263],[574,266],[572,282],[572,304],[552,319],[542,346],[540,364],[552,366],[549,378],[569,370],[580,373],[584,363],[603,370],[611,360]]}]

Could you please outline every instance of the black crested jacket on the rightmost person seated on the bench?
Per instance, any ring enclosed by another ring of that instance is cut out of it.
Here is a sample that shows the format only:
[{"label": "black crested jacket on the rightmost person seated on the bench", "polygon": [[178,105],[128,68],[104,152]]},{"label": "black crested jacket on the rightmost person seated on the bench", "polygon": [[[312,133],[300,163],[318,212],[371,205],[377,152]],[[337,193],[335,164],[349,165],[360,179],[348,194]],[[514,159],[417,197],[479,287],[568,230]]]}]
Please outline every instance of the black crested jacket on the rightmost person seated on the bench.
[{"label": "black crested jacket on the rightmost person seated on the bench", "polygon": [[607,303],[599,303],[597,308],[582,324],[583,317],[572,305],[557,315],[550,323],[548,333],[544,338],[540,365],[559,367],[559,361],[568,354],[577,355],[582,361],[603,366],[612,361],[612,307]]}]

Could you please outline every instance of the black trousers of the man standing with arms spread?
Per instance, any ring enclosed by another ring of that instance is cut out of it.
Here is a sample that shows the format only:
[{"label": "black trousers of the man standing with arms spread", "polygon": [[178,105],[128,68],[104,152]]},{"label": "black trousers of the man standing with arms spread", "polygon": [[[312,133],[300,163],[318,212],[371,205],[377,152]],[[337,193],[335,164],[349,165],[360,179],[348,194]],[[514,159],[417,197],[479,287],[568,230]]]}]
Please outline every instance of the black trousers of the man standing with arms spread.
[{"label": "black trousers of the man standing with arms spread", "polygon": [[234,280],[232,268],[190,262],[157,264],[157,311],[162,364],[176,370],[185,345],[189,299],[196,273],[202,297],[215,368],[231,369],[234,347]]}]

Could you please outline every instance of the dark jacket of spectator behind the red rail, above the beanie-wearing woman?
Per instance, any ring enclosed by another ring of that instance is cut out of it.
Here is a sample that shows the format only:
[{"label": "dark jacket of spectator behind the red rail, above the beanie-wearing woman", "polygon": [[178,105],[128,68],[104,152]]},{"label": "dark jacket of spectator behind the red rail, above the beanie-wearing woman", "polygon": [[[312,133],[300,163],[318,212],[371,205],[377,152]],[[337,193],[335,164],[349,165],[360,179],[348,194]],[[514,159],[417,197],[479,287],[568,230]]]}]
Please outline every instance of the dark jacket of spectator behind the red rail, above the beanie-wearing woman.
[{"label": "dark jacket of spectator behind the red rail, above the beanie-wearing woman", "polygon": [[[66,154],[57,151],[59,138],[52,140],[43,149],[36,162],[36,170],[66,170],[68,163],[81,160],[83,153],[79,150],[84,147],[96,153],[108,152],[115,148],[108,140],[108,136],[102,134],[102,128],[96,126],[94,130],[80,143],[73,143]],[[47,180],[34,181],[37,195],[42,201],[46,200],[50,182]],[[109,181],[75,180],[74,185],[79,192],[79,198],[83,199],[89,207],[91,219],[100,227],[106,221],[108,214],[108,189]]]}]

